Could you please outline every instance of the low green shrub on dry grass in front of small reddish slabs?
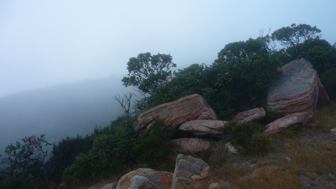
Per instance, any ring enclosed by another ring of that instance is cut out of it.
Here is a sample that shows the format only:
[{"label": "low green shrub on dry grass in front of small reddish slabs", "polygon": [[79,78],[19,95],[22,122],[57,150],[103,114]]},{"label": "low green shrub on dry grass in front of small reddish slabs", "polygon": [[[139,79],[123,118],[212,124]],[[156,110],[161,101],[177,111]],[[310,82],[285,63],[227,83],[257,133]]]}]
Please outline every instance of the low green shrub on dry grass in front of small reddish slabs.
[{"label": "low green shrub on dry grass in front of small reddish slabs", "polygon": [[258,123],[231,121],[223,127],[222,134],[229,138],[233,146],[240,146],[240,153],[264,153],[270,141],[267,136],[260,134],[263,130],[264,126]]}]

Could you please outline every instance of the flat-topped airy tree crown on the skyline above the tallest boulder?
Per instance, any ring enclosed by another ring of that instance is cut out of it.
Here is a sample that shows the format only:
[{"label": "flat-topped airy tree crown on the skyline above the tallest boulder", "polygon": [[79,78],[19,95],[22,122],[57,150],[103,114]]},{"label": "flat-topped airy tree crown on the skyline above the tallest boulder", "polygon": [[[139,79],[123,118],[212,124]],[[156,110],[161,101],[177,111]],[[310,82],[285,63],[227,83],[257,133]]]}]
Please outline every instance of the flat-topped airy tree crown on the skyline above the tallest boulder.
[{"label": "flat-topped airy tree crown on the skyline above the tallest boulder", "polygon": [[307,24],[296,25],[293,23],[291,26],[275,30],[271,34],[271,40],[276,40],[288,48],[308,39],[319,39],[321,37],[320,33],[321,30],[316,28],[316,26],[311,27]]}]

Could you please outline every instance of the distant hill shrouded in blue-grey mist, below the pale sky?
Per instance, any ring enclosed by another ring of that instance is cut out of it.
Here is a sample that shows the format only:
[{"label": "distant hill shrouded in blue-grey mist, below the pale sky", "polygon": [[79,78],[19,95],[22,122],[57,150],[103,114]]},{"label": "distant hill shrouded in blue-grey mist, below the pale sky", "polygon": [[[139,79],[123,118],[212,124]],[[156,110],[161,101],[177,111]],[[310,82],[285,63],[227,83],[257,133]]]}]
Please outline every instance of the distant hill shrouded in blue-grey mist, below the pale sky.
[{"label": "distant hill shrouded in blue-grey mist, below the pale sky", "polygon": [[109,124],[122,114],[111,97],[124,92],[134,90],[123,86],[121,77],[110,76],[1,97],[0,154],[25,136],[46,134],[52,143],[66,135],[89,134],[96,125]]}]

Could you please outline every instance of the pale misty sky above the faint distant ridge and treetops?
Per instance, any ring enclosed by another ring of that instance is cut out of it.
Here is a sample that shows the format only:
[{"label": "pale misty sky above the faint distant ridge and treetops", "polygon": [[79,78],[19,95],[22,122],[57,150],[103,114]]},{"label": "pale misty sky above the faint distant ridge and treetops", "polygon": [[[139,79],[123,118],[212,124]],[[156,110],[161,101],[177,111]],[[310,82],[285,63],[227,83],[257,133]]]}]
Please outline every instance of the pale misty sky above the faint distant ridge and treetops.
[{"label": "pale misty sky above the faint distant ridge and treetops", "polygon": [[0,97],[126,75],[139,53],[171,54],[178,68],[211,64],[225,44],[292,23],[336,41],[336,1],[0,0]]}]

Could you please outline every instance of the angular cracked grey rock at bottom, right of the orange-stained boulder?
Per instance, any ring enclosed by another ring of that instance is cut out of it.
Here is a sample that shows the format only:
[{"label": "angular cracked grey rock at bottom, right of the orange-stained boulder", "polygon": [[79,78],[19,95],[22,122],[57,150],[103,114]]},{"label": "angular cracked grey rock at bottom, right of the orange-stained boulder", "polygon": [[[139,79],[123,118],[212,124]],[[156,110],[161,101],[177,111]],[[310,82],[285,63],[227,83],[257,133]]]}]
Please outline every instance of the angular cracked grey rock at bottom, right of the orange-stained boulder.
[{"label": "angular cracked grey rock at bottom, right of the orange-stained boulder", "polygon": [[173,175],[173,183],[171,189],[179,189],[190,184],[190,179],[196,172],[201,171],[203,167],[208,167],[203,160],[194,158],[191,155],[185,156],[179,154],[176,157],[175,170]]}]

